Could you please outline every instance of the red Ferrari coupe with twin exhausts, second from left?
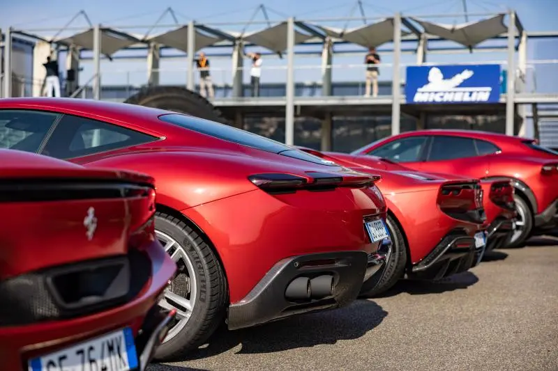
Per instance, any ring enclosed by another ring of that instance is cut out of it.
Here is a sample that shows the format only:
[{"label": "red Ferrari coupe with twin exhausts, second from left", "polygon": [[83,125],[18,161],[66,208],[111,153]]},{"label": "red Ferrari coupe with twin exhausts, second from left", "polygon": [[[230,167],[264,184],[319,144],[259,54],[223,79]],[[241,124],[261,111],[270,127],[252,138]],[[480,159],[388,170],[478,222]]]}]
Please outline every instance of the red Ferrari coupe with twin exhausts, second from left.
[{"label": "red Ferrari coupe with twin exhausts, second from left", "polygon": [[[228,125],[132,104],[0,101],[0,146],[157,180],[156,234],[179,266],[158,358],[229,329],[345,306],[385,261],[378,177]],[[1,131],[0,131],[1,132]]]}]

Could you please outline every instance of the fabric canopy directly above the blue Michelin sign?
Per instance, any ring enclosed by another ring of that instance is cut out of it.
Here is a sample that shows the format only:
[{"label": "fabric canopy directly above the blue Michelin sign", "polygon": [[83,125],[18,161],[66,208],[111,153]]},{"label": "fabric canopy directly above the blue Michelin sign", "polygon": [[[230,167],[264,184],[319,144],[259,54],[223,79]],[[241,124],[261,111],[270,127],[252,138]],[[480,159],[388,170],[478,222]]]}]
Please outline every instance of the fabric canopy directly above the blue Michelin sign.
[{"label": "fabric canopy directly above the blue Michelin sign", "polygon": [[437,24],[423,21],[421,19],[411,18],[414,22],[420,24],[425,33],[439,36],[440,38],[458,42],[465,47],[474,47],[485,40],[495,38],[508,31],[508,26],[504,24],[505,14],[499,14],[495,17],[483,19],[478,22],[469,22],[463,24]]}]

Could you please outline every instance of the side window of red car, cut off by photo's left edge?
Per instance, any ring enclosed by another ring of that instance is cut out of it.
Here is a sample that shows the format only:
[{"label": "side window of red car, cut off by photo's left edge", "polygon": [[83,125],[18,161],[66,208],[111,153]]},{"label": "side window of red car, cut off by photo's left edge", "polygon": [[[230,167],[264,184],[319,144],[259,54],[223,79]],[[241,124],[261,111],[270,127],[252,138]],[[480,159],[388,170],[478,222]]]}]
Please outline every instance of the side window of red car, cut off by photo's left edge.
[{"label": "side window of red car, cut off by photo's left edge", "polygon": [[0,110],[0,148],[37,152],[58,117],[51,112]]}]

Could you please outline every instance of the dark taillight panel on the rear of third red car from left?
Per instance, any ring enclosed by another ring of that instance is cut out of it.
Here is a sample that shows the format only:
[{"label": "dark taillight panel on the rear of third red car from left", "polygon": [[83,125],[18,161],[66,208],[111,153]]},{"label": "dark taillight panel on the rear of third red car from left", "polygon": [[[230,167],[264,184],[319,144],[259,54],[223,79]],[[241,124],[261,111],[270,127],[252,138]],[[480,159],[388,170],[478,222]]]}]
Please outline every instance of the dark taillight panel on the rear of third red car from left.
[{"label": "dark taillight panel on the rear of third red car from left", "polygon": [[437,204],[442,212],[454,219],[483,223],[483,190],[478,183],[444,183],[439,189]]}]

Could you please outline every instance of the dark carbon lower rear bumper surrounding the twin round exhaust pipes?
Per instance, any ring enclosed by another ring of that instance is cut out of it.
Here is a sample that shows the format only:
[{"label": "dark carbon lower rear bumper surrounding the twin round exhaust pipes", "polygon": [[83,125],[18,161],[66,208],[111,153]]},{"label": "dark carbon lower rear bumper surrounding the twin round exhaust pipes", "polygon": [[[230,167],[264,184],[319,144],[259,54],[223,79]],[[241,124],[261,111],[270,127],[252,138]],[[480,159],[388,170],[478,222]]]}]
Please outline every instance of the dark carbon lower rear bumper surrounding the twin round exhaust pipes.
[{"label": "dark carbon lower rear bumper surrounding the twin round exhaust pipes", "polygon": [[[229,306],[228,327],[242,329],[301,313],[347,306],[359,294],[365,274],[371,276],[384,262],[385,257],[364,251],[315,253],[281,260],[244,299]],[[316,296],[314,278],[323,276],[333,276],[331,292]],[[298,278],[311,280],[310,297],[287,298],[287,287]]]}]

